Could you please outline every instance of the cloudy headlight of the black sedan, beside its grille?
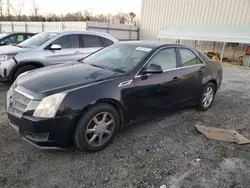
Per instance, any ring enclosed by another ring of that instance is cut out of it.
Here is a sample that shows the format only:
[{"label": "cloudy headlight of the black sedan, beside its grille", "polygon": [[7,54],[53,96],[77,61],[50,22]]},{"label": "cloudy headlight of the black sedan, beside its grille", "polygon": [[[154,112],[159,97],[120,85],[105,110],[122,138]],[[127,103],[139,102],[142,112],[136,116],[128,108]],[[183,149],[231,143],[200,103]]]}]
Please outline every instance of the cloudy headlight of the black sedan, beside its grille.
[{"label": "cloudy headlight of the black sedan, beside its grille", "polygon": [[45,97],[37,106],[34,117],[52,118],[55,117],[60,104],[62,103],[66,93],[57,93]]}]

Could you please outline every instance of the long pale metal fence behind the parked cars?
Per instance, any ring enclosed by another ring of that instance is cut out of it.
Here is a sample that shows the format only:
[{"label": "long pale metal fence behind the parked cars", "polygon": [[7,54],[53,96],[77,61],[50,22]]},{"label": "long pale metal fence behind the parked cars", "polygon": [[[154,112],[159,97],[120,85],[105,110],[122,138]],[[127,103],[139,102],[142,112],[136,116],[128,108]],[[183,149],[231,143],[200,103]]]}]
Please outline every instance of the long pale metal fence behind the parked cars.
[{"label": "long pale metal fence behind the parked cars", "polygon": [[0,22],[0,32],[42,32],[48,30],[83,30],[110,33],[119,40],[138,40],[138,27],[100,22]]}]

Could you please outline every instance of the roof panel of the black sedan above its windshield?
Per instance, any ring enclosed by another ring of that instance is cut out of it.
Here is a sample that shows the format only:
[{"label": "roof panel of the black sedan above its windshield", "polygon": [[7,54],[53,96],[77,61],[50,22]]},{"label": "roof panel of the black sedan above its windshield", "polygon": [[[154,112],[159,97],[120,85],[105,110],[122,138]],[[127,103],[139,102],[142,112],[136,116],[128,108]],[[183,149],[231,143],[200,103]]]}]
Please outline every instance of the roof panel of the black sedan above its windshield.
[{"label": "roof panel of the black sedan above its windshield", "polygon": [[182,44],[171,44],[171,43],[166,43],[166,42],[161,42],[161,41],[123,41],[120,43],[127,43],[127,44],[133,44],[133,45],[138,45],[138,46],[143,46],[143,47],[148,47],[148,48],[157,48],[161,46],[180,46],[180,47],[187,47]]}]

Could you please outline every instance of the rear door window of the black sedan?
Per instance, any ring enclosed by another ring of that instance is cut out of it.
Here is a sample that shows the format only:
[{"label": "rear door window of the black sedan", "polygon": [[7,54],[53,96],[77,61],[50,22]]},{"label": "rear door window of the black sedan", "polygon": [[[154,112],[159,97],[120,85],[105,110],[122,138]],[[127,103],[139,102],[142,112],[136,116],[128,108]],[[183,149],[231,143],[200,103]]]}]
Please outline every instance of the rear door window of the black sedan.
[{"label": "rear door window of the black sedan", "polygon": [[179,49],[184,67],[202,64],[201,60],[189,49]]}]

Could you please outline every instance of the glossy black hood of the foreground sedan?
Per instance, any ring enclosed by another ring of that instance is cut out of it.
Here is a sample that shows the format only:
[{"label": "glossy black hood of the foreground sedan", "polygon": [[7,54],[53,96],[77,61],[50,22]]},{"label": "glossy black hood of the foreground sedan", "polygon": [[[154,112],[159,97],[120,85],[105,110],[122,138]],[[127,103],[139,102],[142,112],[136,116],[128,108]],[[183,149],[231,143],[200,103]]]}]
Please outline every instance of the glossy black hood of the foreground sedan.
[{"label": "glossy black hood of the foreground sedan", "polygon": [[[40,97],[103,81],[121,74],[71,62],[29,71],[17,79],[18,87]],[[37,98],[40,98],[37,97]]]}]

